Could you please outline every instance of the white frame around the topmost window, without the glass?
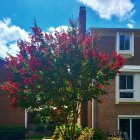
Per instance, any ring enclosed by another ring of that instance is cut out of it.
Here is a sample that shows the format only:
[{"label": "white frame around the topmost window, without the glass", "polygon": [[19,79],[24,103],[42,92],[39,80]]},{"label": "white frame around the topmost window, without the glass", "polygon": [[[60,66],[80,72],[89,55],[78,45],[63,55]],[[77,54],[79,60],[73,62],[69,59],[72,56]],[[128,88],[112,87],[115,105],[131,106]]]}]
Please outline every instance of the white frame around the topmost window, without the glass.
[{"label": "white frame around the topmost window, without the glass", "polygon": [[[120,35],[130,36],[130,50],[120,50]],[[117,32],[116,37],[116,51],[118,54],[123,55],[125,58],[134,56],[134,33]]]}]

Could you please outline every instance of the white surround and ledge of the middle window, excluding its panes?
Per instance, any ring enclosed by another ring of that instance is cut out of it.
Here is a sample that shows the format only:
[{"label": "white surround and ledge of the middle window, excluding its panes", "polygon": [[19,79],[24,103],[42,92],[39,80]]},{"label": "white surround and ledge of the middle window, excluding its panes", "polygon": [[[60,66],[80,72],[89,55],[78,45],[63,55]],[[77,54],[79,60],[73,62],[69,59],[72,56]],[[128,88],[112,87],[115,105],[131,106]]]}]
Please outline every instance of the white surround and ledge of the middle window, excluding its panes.
[{"label": "white surround and ledge of the middle window, excluding its panes", "polygon": [[[120,69],[124,74],[134,75],[133,78],[133,98],[120,98],[120,89],[119,89],[119,75],[116,76],[115,79],[115,103],[140,103],[140,66],[135,65],[125,65],[122,69]],[[122,74],[123,75],[123,74]]]}]

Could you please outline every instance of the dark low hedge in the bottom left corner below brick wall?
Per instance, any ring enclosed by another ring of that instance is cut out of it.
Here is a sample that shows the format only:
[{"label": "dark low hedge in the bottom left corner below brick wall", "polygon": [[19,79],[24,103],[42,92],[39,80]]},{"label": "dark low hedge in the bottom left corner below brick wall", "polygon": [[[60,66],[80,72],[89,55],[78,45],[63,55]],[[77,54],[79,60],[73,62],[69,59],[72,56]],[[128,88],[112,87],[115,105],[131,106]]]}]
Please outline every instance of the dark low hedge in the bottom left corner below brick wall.
[{"label": "dark low hedge in the bottom left corner below brick wall", "polygon": [[22,126],[0,126],[0,140],[21,140],[27,134]]}]

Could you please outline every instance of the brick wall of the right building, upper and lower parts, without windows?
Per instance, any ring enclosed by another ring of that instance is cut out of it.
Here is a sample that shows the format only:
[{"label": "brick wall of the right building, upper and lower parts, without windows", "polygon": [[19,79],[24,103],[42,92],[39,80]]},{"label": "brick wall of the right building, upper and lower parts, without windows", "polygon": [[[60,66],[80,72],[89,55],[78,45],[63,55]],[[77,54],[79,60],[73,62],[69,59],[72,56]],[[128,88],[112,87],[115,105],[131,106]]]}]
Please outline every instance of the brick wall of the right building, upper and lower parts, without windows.
[{"label": "brick wall of the right building, upper and lower parts, without windows", "polygon": [[[110,33],[110,36],[101,37],[100,49],[106,53],[111,53],[115,50],[115,33]],[[127,59],[126,65],[140,65],[140,35],[137,34],[134,38],[134,57]],[[115,104],[115,80],[111,82],[108,88],[108,95],[101,97],[103,103],[94,103],[94,124],[95,127],[101,128],[112,134],[118,132],[118,115],[140,115],[140,104],[125,103]],[[91,105],[91,104],[90,104]],[[87,110],[91,110],[88,108]],[[91,116],[91,112],[88,111]],[[91,119],[88,117],[88,125],[91,126]]]}]

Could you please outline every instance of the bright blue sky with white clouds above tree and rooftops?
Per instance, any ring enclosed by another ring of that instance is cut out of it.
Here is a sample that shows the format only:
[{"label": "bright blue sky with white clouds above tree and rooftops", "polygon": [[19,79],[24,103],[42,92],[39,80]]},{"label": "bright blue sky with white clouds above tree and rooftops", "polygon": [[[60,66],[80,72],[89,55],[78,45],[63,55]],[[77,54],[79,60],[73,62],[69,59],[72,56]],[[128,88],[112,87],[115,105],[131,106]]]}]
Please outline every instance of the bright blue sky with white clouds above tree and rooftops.
[{"label": "bright blue sky with white clouds above tree and rooftops", "polygon": [[139,0],[1,0],[0,56],[16,52],[15,41],[27,39],[34,18],[43,31],[66,27],[86,6],[89,27],[140,28]]}]

